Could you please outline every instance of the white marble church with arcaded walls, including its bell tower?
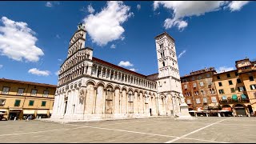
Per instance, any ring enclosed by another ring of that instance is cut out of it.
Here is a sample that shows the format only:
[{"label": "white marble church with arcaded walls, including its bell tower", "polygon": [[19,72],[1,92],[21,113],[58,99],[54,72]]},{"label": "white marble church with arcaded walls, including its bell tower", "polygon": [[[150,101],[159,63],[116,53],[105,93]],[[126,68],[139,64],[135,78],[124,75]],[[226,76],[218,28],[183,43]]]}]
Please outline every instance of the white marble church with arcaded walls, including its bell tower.
[{"label": "white marble church with arcaded walls, including its bell tower", "polygon": [[58,75],[51,118],[90,120],[178,116],[182,87],[174,38],[155,37],[158,73],[138,74],[93,57],[80,24]]}]

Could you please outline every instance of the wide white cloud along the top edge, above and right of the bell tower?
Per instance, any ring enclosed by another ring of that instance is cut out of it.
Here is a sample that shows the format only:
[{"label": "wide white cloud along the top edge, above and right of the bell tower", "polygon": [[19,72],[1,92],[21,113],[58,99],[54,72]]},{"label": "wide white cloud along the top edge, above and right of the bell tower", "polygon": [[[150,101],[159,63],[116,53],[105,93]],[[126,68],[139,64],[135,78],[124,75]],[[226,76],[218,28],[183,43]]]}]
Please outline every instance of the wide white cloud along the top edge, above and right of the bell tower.
[{"label": "wide white cloud along the top edge, above and right of the bell tower", "polygon": [[173,11],[172,18],[166,18],[164,27],[170,29],[177,26],[178,30],[184,29],[188,23],[183,18],[200,16],[208,12],[222,10],[222,6],[228,5],[230,10],[240,10],[248,2],[228,2],[228,1],[154,1],[154,10],[163,6]]}]

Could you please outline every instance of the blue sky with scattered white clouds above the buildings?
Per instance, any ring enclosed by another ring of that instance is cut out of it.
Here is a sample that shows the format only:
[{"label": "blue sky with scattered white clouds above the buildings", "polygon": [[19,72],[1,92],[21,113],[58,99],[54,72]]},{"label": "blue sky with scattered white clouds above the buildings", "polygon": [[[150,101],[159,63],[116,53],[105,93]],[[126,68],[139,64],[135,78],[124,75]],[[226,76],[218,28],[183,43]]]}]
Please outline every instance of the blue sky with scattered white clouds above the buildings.
[{"label": "blue sky with scattered white clouds above the buildings", "polygon": [[79,22],[94,57],[158,72],[154,37],[175,39],[181,76],[255,58],[255,2],[0,2],[0,78],[56,85]]}]

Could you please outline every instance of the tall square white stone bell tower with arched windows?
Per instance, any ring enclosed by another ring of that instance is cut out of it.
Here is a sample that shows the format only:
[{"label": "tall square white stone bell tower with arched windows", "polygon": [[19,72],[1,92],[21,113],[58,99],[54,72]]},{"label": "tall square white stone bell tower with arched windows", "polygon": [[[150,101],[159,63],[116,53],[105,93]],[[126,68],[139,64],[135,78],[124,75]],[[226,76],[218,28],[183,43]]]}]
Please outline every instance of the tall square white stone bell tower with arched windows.
[{"label": "tall square white stone bell tower with arched windows", "polygon": [[[166,114],[175,116],[180,113],[180,94],[182,94],[175,41],[166,32],[154,39],[158,58],[158,96],[160,99],[165,98],[165,101],[162,100],[162,105],[166,106]],[[162,113],[164,114],[165,112]]]}]

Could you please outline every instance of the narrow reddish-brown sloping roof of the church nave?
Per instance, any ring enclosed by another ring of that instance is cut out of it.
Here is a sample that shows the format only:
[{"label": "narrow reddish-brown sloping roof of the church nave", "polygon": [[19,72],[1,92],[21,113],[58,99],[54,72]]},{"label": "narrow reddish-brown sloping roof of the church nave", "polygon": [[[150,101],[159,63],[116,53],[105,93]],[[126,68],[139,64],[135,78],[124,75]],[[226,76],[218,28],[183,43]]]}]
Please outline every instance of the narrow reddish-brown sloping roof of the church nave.
[{"label": "narrow reddish-brown sloping roof of the church nave", "polygon": [[142,78],[146,78],[146,75],[144,75],[144,74],[136,73],[136,72],[134,72],[132,70],[125,69],[125,68],[123,68],[121,66],[116,66],[116,65],[114,65],[114,64],[112,64],[110,62],[103,61],[102,59],[98,59],[98,58],[93,57],[93,62],[98,62],[98,63],[101,63],[102,65],[110,66],[110,67],[112,67],[114,69],[122,70],[122,71],[124,71],[126,73],[130,73],[130,74],[134,74],[134,75],[137,75],[139,77],[142,77]]}]

